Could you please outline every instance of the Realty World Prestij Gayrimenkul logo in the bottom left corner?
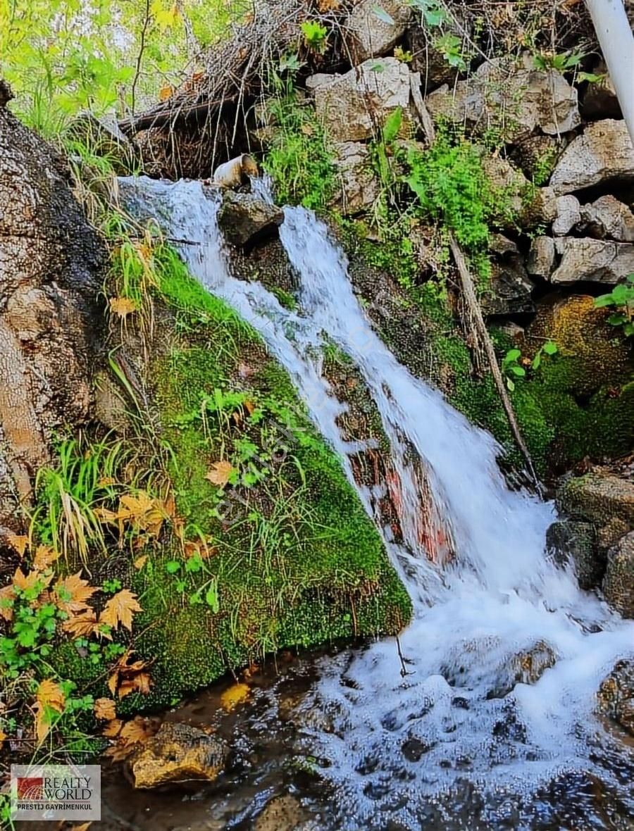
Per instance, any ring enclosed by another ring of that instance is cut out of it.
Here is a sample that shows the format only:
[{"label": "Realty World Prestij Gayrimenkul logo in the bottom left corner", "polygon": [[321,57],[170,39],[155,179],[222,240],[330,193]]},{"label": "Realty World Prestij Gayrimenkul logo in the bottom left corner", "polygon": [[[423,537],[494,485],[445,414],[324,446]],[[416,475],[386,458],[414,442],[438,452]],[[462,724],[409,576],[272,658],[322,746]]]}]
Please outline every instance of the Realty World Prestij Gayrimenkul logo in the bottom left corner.
[{"label": "Realty World Prestij Gayrimenkul logo in the bottom left corner", "polygon": [[101,819],[99,765],[11,765],[11,818]]}]

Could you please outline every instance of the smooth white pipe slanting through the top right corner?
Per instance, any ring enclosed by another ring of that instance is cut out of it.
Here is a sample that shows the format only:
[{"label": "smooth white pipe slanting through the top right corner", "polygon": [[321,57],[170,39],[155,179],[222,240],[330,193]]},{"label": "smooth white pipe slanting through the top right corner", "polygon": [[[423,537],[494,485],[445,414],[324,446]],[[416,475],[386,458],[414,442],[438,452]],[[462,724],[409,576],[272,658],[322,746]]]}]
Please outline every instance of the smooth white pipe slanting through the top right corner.
[{"label": "smooth white pipe slanting through the top right corner", "polygon": [[634,145],[634,37],[622,0],[586,0]]}]

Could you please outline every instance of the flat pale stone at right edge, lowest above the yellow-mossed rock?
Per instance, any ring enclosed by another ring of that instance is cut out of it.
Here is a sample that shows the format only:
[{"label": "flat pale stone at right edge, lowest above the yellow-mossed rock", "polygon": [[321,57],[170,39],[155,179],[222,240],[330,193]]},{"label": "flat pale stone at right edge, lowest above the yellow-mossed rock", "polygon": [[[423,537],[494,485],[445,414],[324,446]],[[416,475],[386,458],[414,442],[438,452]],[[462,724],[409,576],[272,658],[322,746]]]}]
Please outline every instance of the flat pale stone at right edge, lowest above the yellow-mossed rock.
[{"label": "flat pale stone at right edge, lowest above the yellow-mossed rock", "polygon": [[559,237],[555,251],[560,259],[551,283],[604,283],[614,286],[634,272],[634,245],[606,239]]}]

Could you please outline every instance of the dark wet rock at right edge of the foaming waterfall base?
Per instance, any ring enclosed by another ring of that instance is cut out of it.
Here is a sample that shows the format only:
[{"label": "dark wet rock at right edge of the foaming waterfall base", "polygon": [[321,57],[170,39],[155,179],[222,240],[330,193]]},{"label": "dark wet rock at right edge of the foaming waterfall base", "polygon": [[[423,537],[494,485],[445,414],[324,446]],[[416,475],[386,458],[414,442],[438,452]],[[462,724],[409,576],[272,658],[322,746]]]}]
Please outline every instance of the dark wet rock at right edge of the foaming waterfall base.
[{"label": "dark wet rock at right edge of the foaming waterfall base", "polygon": [[556,563],[574,563],[580,588],[589,591],[601,585],[606,558],[605,553],[602,555],[597,550],[594,524],[580,519],[561,519],[546,532],[546,546]]}]

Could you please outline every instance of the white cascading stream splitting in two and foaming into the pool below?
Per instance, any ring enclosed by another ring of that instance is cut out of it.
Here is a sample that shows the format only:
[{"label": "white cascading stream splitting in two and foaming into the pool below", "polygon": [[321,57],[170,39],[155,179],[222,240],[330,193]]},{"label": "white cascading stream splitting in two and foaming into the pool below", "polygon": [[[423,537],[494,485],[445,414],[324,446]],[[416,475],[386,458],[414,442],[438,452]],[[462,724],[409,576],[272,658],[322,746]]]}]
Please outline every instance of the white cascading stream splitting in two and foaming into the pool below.
[{"label": "white cascading stream splitting in two and foaming into the pool below", "polygon": [[[124,179],[121,187],[135,214],[187,241],[179,250],[194,276],[260,332],[353,484],[350,456],[359,446],[337,426],[345,407],[322,376],[325,335],[361,372],[390,440],[402,543],[381,530],[415,616],[401,636],[402,657],[387,639],[322,661],[311,706],[325,723],[300,741],[325,760],[323,773],[335,786],[338,813],[327,828],[632,829],[628,820],[589,815],[585,825],[555,821],[540,796],[553,782],[577,777],[569,787],[582,800],[597,777],[634,818],[634,752],[615,744],[594,714],[602,677],[634,654],[634,624],[580,592],[573,574],[545,555],[552,507],[509,490],[492,437],[396,361],[314,214],[287,208],[280,229],[299,278],[298,314],[260,283],[230,275],[213,191],[150,179]],[[268,198],[265,185],[257,187]],[[421,533],[412,449],[430,491],[427,521],[450,539],[444,564],[432,562]],[[358,490],[376,518],[368,489]]]}]

